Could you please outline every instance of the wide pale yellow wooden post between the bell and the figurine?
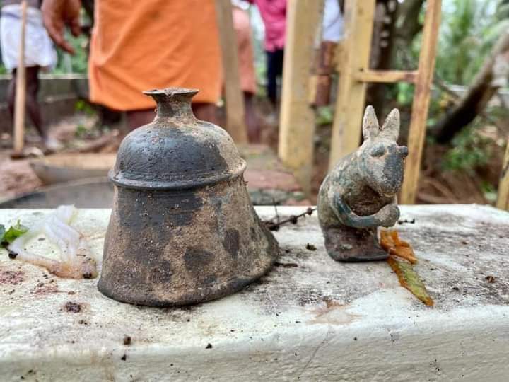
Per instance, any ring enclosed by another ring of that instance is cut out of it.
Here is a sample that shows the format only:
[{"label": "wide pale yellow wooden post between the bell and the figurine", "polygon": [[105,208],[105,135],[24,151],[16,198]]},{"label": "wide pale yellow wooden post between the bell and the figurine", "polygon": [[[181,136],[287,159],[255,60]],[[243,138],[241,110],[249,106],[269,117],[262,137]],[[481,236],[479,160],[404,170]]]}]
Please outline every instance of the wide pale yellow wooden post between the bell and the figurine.
[{"label": "wide pale yellow wooden post between the bell and the figurine", "polygon": [[279,157],[293,170],[304,192],[310,191],[315,113],[310,108],[313,42],[323,0],[288,0]]}]

